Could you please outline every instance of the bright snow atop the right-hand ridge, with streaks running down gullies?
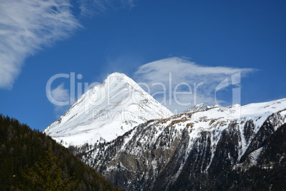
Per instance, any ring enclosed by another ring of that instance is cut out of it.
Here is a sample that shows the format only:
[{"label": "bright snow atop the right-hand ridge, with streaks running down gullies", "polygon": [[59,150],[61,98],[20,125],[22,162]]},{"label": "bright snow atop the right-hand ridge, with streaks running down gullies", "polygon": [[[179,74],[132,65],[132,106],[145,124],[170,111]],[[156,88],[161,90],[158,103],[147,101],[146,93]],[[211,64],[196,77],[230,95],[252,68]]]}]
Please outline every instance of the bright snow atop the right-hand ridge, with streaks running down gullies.
[{"label": "bright snow atop the right-hand ridge, with streaks running down gullies", "polygon": [[[177,123],[176,125],[184,128],[187,124],[191,124],[192,128],[189,133],[190,150],[194,143],[193,141],[201,135],[200,133],[202,131],[209,131],[211,133],[213,137],[211,148],[216,148],[221,132],[228,128],[230,124],[237,123],[241,137],[241,141],[239,143],[241,150],[238,152],[238,158],[240,159],[250,144],[246,143],[245,135],[243,133],[245,122],[253,120],[253,124],[255,125],[253,135],[255,135],[265,120],[267,120],[267,118],[269,118],[273,113],[281,115],[281,120],[277,122],[278,124],[275,127],[275,130],[277,130],[280,125],[286,123],[286,98],[265,103],[251,103],[243,106],[235,104],[226,108],[219,108],[216,106],[200,112],[190,112],[191,115],[189,116],[187,115],[188,112],[186,112],[184,122],[180,124]],[[184,115],[178,115],[174,120],[178,120],[179,118],[183,119],[184,117]],[[213,152],[214,151],[215,150],[213,150]]]}]

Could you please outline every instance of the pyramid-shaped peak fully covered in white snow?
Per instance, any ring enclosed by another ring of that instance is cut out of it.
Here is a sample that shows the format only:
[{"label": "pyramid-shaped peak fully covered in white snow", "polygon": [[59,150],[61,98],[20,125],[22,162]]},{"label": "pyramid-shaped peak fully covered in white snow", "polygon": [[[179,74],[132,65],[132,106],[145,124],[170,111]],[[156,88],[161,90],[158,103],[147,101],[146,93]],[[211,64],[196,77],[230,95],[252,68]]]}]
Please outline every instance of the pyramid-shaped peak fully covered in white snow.
[{"label": "pyramid-shaped peak fully covered in white snow", "polygon": [[44,133],[68,145],[111,141],[147,120],[173,115],[123,73],[83,94]]}]

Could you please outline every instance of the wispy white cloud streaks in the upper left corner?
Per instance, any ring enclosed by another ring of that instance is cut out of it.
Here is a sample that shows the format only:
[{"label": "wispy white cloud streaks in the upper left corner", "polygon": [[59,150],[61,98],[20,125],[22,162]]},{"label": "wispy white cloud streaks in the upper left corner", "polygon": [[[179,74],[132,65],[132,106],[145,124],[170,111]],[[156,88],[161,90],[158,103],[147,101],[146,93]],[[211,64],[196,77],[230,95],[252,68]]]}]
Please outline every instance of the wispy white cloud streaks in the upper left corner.
[{"label": "wispy white cloud streaks in the upper left corner", "polygon": [[[28,56],[81,27],[115,0],[0,0],[0,88],[12,88]],[[133,5],[125,0],[121,4]],[[78,8],[78,15],[75,10]]]}]

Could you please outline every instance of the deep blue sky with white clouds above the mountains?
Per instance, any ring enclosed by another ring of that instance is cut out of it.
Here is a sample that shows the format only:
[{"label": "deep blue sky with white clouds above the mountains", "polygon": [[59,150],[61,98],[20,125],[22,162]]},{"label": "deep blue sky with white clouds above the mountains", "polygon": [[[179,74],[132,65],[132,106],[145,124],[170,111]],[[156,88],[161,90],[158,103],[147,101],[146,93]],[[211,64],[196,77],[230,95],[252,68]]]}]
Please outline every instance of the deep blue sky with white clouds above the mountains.
[{"label": "deep blue sky with white clouds above the mountains", "polygon": [[[204,81],[199,101],[212,104],[213,87],[241,71],[242,105],[285,98],[285,10],[286,1],[0,1],[0,113],[43,130],[68,108],[48,100],[46,83],[72,72],[76,83],[116,71],[154,83],[173,71],[176,83]],[[52,88],[65,99],[69,79]],[[227,104],[231,88],[218,96]]]}]

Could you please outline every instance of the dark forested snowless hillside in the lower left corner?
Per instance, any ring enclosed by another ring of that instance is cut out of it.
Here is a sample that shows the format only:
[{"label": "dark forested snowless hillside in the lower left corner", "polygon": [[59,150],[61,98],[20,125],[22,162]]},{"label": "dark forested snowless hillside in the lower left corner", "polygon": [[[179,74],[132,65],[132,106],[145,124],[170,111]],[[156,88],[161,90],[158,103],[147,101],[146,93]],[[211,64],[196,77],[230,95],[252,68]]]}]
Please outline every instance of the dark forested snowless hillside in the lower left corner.
[{"label": "dark forested snowless hillside in the lower left corner", "polygon": [[0,190],[119,190],[51,137],[3,115],[0,161]]}]

